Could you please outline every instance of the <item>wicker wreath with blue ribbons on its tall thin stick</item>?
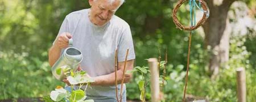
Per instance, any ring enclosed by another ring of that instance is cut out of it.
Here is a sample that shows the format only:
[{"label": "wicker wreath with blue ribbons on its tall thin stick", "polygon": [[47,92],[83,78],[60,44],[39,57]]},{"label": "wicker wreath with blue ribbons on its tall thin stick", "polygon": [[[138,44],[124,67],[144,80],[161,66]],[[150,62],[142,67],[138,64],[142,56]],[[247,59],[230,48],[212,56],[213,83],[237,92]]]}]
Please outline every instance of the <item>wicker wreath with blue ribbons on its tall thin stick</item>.
[{"label": "wicker wreath with blue ribbons on its tall thin stick", "polygon": [[[186,76],[185,76],[185,86],[184,86],[184,92],[183,92],[183,102],[185,101],[185,94],[187,91],[187,83],[188,83],[188,71],[189,71],[189,56],[190,56],[190,51],[191,51],[191,37],[192,37],[192,31],[199,28],[200,25],[202,25],[207,18],[209,17],[209,11],[207,7],[207,3],[205,3],[203,0],[197,0],[199,4],[197,4],[196,0],[189,0],[189,12],[190,12],[190,19],[191,19],[191,26],[190,27],[185,27],[182,25],[179,20],[177,19],[177,10],[179,7],[184,3],[187,2],[188,0],[180,0],[177,5],[174,7],[172,18],[174,20],[174,23],[177,28],[183,29],[189,32],[189,45],[188,45],[188,56],[187,56],[187,71],[186,71]],[[199,8],[199,10],[203,11],[203,17],[199,20],[199,22],[196,24],[196,8]]]}]

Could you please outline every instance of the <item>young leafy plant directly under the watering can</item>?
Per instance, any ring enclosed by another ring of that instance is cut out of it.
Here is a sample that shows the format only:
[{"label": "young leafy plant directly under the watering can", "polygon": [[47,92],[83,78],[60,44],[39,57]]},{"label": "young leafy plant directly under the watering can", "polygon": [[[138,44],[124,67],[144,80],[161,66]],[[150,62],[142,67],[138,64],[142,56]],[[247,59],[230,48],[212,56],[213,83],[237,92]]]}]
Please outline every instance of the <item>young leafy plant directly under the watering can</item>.
[{"label": "young leafy plant directly under the watering can", "polygon": [[[93,100],[86,99],[86,88],[90,83],[94,82],[92,78],[86,76],[85,71],[70,70],[71,68],[66,67],[63,69],[65,75],[67,75],[67,80],[71,84],[71,91],[65,90],[61,86],[57,86],[54,91],[51,91],[50,97],[53,101],[69,101],[69,102],[94,102]],[[81,87],[86,84],[84,90]],[[73,90],[74,86],[79,86],[78,90]],[[46,101],[46,100],[45,100]]]}]

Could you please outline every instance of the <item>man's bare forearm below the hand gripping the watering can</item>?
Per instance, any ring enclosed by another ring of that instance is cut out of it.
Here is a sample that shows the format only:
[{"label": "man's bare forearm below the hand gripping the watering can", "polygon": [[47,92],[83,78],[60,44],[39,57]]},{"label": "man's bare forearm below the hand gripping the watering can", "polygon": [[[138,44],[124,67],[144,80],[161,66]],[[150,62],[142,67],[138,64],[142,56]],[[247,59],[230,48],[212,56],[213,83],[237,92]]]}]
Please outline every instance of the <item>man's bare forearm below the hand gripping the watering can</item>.
[{"label": "man's bare forearm below the hand gripping the watering can", "polygon": [[61,53],[61,49],[57,48],[55,45],[49,49],[49,65],[53,66],[53,64],[59,59]]}]

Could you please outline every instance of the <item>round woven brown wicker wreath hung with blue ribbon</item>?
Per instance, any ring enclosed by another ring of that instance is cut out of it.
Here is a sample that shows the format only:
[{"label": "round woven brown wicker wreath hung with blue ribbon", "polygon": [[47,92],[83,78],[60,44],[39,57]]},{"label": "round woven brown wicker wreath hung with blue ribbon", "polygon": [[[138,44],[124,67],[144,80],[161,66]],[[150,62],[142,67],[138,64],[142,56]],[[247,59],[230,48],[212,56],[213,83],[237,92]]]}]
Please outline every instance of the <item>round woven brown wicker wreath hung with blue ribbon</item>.
[{"label": "round woven brown wicker wreath hung with blue ribbon", "polygon": [[204,24],[205,20],[207,20],[207,13],[208,13],[208,8],[207,8],[207,3],[205,3],[203,0],[197,0],[201,3],[201,6],[203,8],[204,11],[204,15],[203,15],[203,18],[201,18],[199,20],[199,22],[193,26],[193,27],[185,27],[184,25],[182,25],[179,20],[177,19],[177,10],[180,8],[180,6],[184,3],[184,2],[187,2],[188,0],[180,0],[177,5],[174,7],[174,10],[173,10],[173,14],[172,14],[172,18],[174,19],[174,23],[176,25],[177,28],[180,28],[180,29],[184,29],[184,30],[187,30],[187,31],[192,31],[194,29],[197,29],[200,27],[200,25]]}]

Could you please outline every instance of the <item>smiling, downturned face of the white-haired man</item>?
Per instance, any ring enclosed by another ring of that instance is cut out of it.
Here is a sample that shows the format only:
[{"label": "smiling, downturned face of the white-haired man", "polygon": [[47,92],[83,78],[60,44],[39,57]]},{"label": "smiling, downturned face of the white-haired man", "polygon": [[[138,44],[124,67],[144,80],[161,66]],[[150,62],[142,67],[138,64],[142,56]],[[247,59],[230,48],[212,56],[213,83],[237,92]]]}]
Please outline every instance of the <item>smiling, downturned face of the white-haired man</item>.
[{"label": "smiling, downturned face of the white-haired man", "polygon": [[89,19],[93,24],[102,26],[109,22],[109,20],[117,11],[120,1],[115,0],[113,3],[110,3],[108,0],[89,0],[90,5],[90,16]]}]

